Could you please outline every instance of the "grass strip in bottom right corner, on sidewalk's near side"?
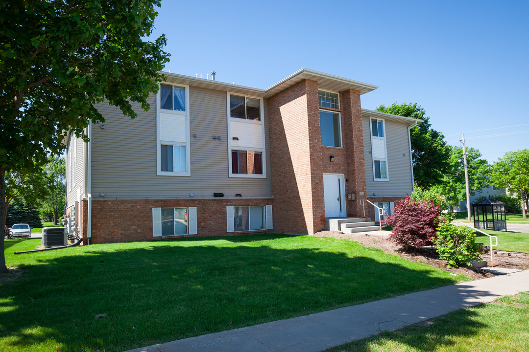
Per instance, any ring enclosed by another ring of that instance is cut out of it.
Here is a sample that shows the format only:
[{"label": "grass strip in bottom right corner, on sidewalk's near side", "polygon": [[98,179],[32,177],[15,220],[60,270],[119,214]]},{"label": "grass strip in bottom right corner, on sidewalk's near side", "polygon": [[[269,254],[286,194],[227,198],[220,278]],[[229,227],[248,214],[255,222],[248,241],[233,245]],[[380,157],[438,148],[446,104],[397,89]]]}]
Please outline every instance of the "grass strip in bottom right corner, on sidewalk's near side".
[{"label": "grass strip in bottom right corner, on sidewalk's near side", "polygon": [[327,352],[528,351],[529,293],[461,309],[428,323],[382,332]]}]

